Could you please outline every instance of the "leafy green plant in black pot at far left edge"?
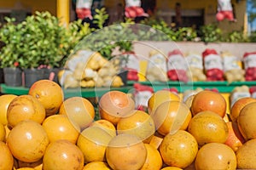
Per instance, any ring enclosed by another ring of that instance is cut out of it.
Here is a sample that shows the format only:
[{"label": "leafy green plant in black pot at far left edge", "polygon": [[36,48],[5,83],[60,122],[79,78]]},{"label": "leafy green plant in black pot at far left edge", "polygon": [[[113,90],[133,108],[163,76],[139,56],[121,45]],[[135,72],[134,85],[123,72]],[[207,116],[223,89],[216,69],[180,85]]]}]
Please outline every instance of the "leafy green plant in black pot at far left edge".
[{"label": "leafy green plant in black pot at far left edge", "polygon": [[23,29],[22,24],[15,24],[15,19],[5,18],[7,23],[0,29],[0,63],[3,69],[4,83],[7,86],[22,85]]}]

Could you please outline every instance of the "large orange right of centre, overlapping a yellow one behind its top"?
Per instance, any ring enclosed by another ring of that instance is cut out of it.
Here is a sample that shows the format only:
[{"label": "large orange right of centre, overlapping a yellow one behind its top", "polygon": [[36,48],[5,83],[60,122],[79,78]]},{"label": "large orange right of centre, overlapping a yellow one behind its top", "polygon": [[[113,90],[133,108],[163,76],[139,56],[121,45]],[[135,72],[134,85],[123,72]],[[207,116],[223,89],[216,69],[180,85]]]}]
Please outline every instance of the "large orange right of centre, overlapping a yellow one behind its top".
[{"label": "large orange right of centre, overlapping a yellow one behind its top", "polygon": [[183,102],[169,100],[159,105],[152,117],[157,132],[166,135],[187,129],[192,114]]}]

